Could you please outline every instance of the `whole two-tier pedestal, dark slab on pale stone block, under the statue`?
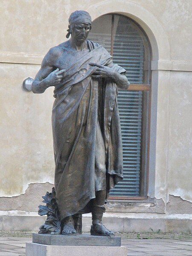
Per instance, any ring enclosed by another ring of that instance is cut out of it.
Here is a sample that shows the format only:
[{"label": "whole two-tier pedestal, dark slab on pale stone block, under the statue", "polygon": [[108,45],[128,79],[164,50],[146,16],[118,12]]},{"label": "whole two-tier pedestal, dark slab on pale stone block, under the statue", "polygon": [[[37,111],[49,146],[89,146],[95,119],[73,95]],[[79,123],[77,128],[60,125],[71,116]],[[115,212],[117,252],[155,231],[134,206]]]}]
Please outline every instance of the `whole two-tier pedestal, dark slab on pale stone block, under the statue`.
[{"label": "whole two-tier pedestal, dark slab on pale stone block, under the statue", "polygon": [[51,236],[33,234],[32,243],[26,244],[26,256],[127,256],[127,247],[121,246],[120,237]]}]

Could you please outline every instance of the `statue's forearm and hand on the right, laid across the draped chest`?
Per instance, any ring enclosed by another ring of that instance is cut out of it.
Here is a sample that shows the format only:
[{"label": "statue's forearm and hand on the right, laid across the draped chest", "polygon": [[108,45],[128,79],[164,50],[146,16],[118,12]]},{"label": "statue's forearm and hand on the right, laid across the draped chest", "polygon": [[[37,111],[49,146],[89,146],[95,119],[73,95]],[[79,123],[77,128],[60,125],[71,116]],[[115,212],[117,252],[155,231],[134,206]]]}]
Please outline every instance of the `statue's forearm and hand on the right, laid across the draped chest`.
[{"label": "statue's forearm and hand on the right, laid across the draped chest", "polygon": [[130,83],[124,74],[120,74],[116,72],[109,66],[100,65],[97,63],[90,63],[90,65],[98,67],[97,70],[95,71],[96,75],[94,75],[93,77],[111,78],[120,89],[128,89]]}]

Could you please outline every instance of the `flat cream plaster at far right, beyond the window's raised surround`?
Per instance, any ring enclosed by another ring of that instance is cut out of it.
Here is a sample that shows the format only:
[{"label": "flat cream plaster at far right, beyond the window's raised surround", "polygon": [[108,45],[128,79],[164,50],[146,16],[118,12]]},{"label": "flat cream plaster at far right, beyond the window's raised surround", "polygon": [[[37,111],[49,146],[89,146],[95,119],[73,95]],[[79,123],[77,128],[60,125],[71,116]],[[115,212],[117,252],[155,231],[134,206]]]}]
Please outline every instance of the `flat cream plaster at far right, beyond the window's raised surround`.
[{"label": "flat cream plaster at far right, beyond the window's raised surround", "polygon": [[167,189],[192,202],[192,73],[170,74]]}]

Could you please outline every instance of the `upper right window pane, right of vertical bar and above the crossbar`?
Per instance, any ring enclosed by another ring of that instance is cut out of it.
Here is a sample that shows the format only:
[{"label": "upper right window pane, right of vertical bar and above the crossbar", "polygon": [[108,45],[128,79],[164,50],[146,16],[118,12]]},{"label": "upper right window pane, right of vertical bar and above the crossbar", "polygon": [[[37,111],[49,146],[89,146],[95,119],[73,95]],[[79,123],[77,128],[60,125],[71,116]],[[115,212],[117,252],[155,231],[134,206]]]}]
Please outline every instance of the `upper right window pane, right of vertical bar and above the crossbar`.
[{"label": "upper right window pane, right of vertical bar and above the crossbar", "polygon": [[138,26],[125,16],[114,17],[113,61],[124,67],[130,83],[143,84],[145,75],[144,37]]}]

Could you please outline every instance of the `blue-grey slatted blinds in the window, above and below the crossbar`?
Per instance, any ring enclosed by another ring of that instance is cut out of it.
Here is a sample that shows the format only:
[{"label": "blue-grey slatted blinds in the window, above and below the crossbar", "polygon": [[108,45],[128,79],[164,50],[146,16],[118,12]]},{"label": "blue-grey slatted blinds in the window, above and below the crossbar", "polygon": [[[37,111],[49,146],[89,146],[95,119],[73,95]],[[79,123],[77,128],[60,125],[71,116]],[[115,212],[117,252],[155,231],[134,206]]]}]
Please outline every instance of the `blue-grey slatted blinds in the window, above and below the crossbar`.
[{"label": "blue-grey slatted blinds in the window, above and below the crossbar", "polygon": [[[91,33],[89,39],[111,52],[111,34]],[[143,56],[143,41],[137,31],[132,29],[128,35],[115,35],[113,62],[127,70],[126,76],[131,83],[143,83]],[[142,98],[142,91],[118,92],[124,179],[111,190],[112,197],[140,195]]]}]

